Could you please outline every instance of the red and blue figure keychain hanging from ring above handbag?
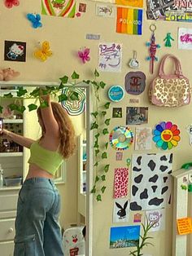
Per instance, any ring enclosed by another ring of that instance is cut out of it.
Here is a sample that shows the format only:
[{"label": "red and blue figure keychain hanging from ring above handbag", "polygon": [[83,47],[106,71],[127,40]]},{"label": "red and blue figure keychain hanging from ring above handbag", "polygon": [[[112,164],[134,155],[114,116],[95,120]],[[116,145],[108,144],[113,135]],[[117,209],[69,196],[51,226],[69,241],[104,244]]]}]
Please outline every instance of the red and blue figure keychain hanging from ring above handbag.
[{"label": "red and blue figure keychain hanging from ring above handbag", "polygon": [[146,46],[149,47],[150,56],[148,56],[146,58],[146,60],[150,60],[151,61],[150,72],[153,73],[154,72],[154,61],[158,60],[158,58],[155,57],[155,53],[156,53],[157,48],[160,48],[160,46],[159,46],[159,44],[155,43],[155,30],[156,30],[155,24],[151,24],[150,30],[152,32],[152,34],[151,34],[151,42],[146,42]]}]

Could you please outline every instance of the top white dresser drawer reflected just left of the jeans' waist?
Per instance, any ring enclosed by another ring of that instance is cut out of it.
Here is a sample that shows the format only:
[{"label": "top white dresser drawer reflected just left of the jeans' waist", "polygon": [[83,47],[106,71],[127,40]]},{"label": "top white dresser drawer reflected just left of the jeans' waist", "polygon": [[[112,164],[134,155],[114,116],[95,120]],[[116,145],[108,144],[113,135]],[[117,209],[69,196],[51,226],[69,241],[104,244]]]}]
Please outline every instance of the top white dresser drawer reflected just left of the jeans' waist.
[{"label": "top white dresser drawer reflected just left of the jeans' waist", "polygon": [[16,210],[18,194],[0,194],[0,211]]}]

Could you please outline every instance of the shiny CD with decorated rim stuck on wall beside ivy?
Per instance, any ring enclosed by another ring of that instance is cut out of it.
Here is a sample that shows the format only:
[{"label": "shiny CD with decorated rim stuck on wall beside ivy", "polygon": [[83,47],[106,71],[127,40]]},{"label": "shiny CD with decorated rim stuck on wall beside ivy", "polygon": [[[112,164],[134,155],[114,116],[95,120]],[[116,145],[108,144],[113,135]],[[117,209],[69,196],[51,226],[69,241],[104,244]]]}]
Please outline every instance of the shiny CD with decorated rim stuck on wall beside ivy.
[{"label": "shiny CD with decorated rim stuck on wall beside ivy", "polygon": [[133,143],[133,131],[129,127],[117,126],[111,130],[109,143],[116,150],[127,149]]}]

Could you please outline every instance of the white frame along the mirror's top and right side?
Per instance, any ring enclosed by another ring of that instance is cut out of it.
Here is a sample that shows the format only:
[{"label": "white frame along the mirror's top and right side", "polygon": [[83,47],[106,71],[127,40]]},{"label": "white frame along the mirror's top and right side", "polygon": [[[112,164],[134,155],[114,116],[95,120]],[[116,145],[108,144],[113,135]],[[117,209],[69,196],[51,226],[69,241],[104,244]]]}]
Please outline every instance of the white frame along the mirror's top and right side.
[{"label": "white frame along the mirror's top and right side", "polygon": [[[43,86],[59,86],[59,82],[20,82],[20,81],[0,81],[0,88],[2,86],[28,86],[28,87],[43,87]],[[66,87],[70,85],[66,84]],[[93,112],[93,99],[91,87],[85,82],[80,82],[76,85],[78,88],[85,88],[86,90],[86,154],[87,154],[87,171],[86,171],[86,242],[85,255],[92,256],[93,243],[93,194],[90,193],[93,188],[93,170],[94,170],[94,156],[93,156],[93,131],[90,130],[91,120],[90,114]]]}]

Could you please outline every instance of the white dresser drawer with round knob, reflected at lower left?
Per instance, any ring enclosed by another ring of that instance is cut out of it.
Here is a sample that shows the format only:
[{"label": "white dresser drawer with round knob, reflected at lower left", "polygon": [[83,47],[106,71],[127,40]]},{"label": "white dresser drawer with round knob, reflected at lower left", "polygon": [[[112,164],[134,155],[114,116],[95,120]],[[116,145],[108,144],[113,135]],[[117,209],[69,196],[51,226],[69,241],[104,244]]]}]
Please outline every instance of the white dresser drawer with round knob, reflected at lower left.
[{"label": "white dresser drawer with round knob, reflected at lower left", "polygon": [[0,241],[13,240],[14,237],[15,218],[0,219]]}]

